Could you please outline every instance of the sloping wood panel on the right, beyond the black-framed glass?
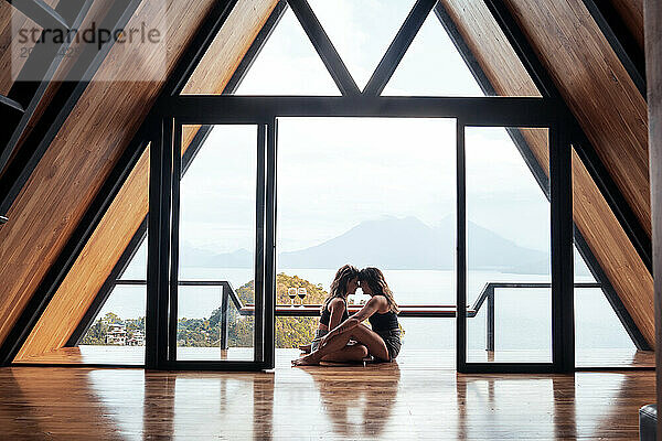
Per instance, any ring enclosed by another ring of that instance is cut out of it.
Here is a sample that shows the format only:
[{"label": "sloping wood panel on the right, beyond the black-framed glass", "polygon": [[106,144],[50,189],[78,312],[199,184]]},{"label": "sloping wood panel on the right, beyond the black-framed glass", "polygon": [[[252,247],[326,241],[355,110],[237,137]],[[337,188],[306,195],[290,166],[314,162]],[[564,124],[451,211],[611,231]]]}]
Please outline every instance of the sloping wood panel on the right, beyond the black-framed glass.
[{"label": "sloping wood panel on the right, beyond the black-framed glass", "polygon": [[[536,92],[533,80],[483,2],[442,0],[442,3],[499,95],[513,95],[516,90],[523,92],[523,95]],[[560,49],[557,47],[557,51]],[[589,54],[583,56],[589,58]],[[595,63],[600,62],[595,61]],[[573,65],[562,67],[566,71],[573,69]],[[615,83],[613,87],[619,87],[619,84]],[[594,90],[592,94],[600,93]],[[592,96],[586,98],[590,100]],[[610,111],[605,109],[605,112]],[[626,122],[623,118],[620,123],[617,123],[624,133],[615,136],[632,137],[633,131],[623,128]],[[639,122],[641,121],[637,121]],[[541,137],[540,130],[523,130],[523,135],[548,175],[549,157],[546,139]],[[600,137],[600,140],[602,138]],[[612,146],[613,143],[610,142],[607,147]],[[624,152],[622,155],[627,159],[631,154]],[[636,169],[634,172],[637,171]],[[573,184],[574,220],[624,306],[652,346],[654,342],[652,278],[576,154],[573,158]]]}]

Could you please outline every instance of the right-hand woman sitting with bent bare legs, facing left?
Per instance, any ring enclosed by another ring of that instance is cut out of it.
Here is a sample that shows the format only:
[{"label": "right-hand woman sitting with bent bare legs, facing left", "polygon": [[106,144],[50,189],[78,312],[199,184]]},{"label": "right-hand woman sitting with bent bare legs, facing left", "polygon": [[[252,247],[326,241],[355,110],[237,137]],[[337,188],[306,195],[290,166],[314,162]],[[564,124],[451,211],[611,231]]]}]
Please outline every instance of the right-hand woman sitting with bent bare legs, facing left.
[{"label": "right-hand woman sitting with bent bare legs, facing left", "polygon": [[[325,334],[316,351],[293,359],[293,366],[317,365],[320,362],[361,362],[367,355],[384,362],[397,357],[402,346],[398,308],[384,275],[377,268],[364,268],[359,281],[363,292],[371,297],[367,303]],[[366,319],[372,330],[361,323]],[[351,340],[357,344],[348,346]]]}]

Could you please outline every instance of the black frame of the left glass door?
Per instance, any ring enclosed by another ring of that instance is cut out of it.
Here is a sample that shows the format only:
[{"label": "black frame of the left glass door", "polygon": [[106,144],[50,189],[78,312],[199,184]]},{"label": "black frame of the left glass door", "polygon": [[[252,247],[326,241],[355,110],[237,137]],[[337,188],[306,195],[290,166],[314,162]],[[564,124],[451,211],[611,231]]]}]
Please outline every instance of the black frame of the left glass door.
[{"label": "black frame of the left glass door", "polygon": [[[215,125],[223,125],[218,120]],[[232,121],[229,123],[233,123]],[[257,127],[256,236],[255,236],[255,327],[253,361],[180,361],[177,358],[179,287],[179,218],[181,182],[181,133],[178,118],[163,119],[160,149],[150,150],[150,235],[148,255],[148,308],[146,320],[146,366],[157,369],[261,370],[274,367],[275,247],[268,246],[266,229],[275,227],[266,197],[275,195],[275,121],[255,120]],[[271,133],[271,135],[268,135]],[[160,150],[160,151],[159,151]],[[153,178],[152,178],[153,176]],[[266,224],[268,226],[266,227]],[[269,332],[270,330],[270,332]],[[149,337],[148,337],[149,336]],[[269,344],[270,343],[270,344]]]}]

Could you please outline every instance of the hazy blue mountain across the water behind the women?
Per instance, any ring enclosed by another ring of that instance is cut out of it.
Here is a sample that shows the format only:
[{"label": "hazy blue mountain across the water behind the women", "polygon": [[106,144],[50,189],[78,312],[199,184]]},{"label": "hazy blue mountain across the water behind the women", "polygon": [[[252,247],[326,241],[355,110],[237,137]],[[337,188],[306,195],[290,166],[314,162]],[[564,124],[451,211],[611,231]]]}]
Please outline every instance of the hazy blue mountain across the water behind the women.
[{"label": "hazy blue mountain across the water behind the women", "polygon": [[[468,263],[472,270],[544,273],[549,268],[545,252],[524,248],[498,234],[469,223]],[[185,247],[188,248],[188,247]],[[253,255],[241,249],[210,256],[209,251],[182,250],[181,262],[194,267],[247,268]],[[280,268],[335,269],[351,262],[383,269],[455,268],[455,218],[430,227],[416,217],[366,220],[322,244],[278,256]]]}]

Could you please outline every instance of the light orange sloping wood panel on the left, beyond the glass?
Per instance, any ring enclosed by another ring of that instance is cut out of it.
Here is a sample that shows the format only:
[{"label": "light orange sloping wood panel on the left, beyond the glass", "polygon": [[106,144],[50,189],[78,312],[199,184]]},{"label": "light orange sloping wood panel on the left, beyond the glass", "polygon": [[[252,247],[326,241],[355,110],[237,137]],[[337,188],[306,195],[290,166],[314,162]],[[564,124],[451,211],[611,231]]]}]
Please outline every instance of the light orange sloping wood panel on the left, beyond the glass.
[{"label": "light orange sloping wood panel on the left, beyond the glass", "polygon": [[[277,0],[241,0],[184,90],[193,94],[221,93],[276,3]],[[186,128],[183,146],[189,146],[195,132],[196,129]],[[62,347],[83,319],[147,215],[148,162],[148,155],[145,153],[30,334],[17,359],[25,359]]]}]

